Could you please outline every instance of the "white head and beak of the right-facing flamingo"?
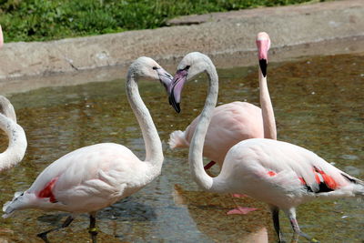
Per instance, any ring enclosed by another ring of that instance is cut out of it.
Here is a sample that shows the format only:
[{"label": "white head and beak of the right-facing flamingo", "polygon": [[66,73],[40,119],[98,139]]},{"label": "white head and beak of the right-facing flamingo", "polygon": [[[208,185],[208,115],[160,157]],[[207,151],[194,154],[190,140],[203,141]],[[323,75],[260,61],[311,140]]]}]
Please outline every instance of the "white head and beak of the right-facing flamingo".
[{"label": "white head and beak of the right-facing flamingo", "polygon": [[162,66],[158,65],[155,60],[147,56],[141,56],[134,61],[128,71],[128,76],[144,78],[149,80],[159,80],[165,86],[166,90],[172,84],[172,77]]}]

